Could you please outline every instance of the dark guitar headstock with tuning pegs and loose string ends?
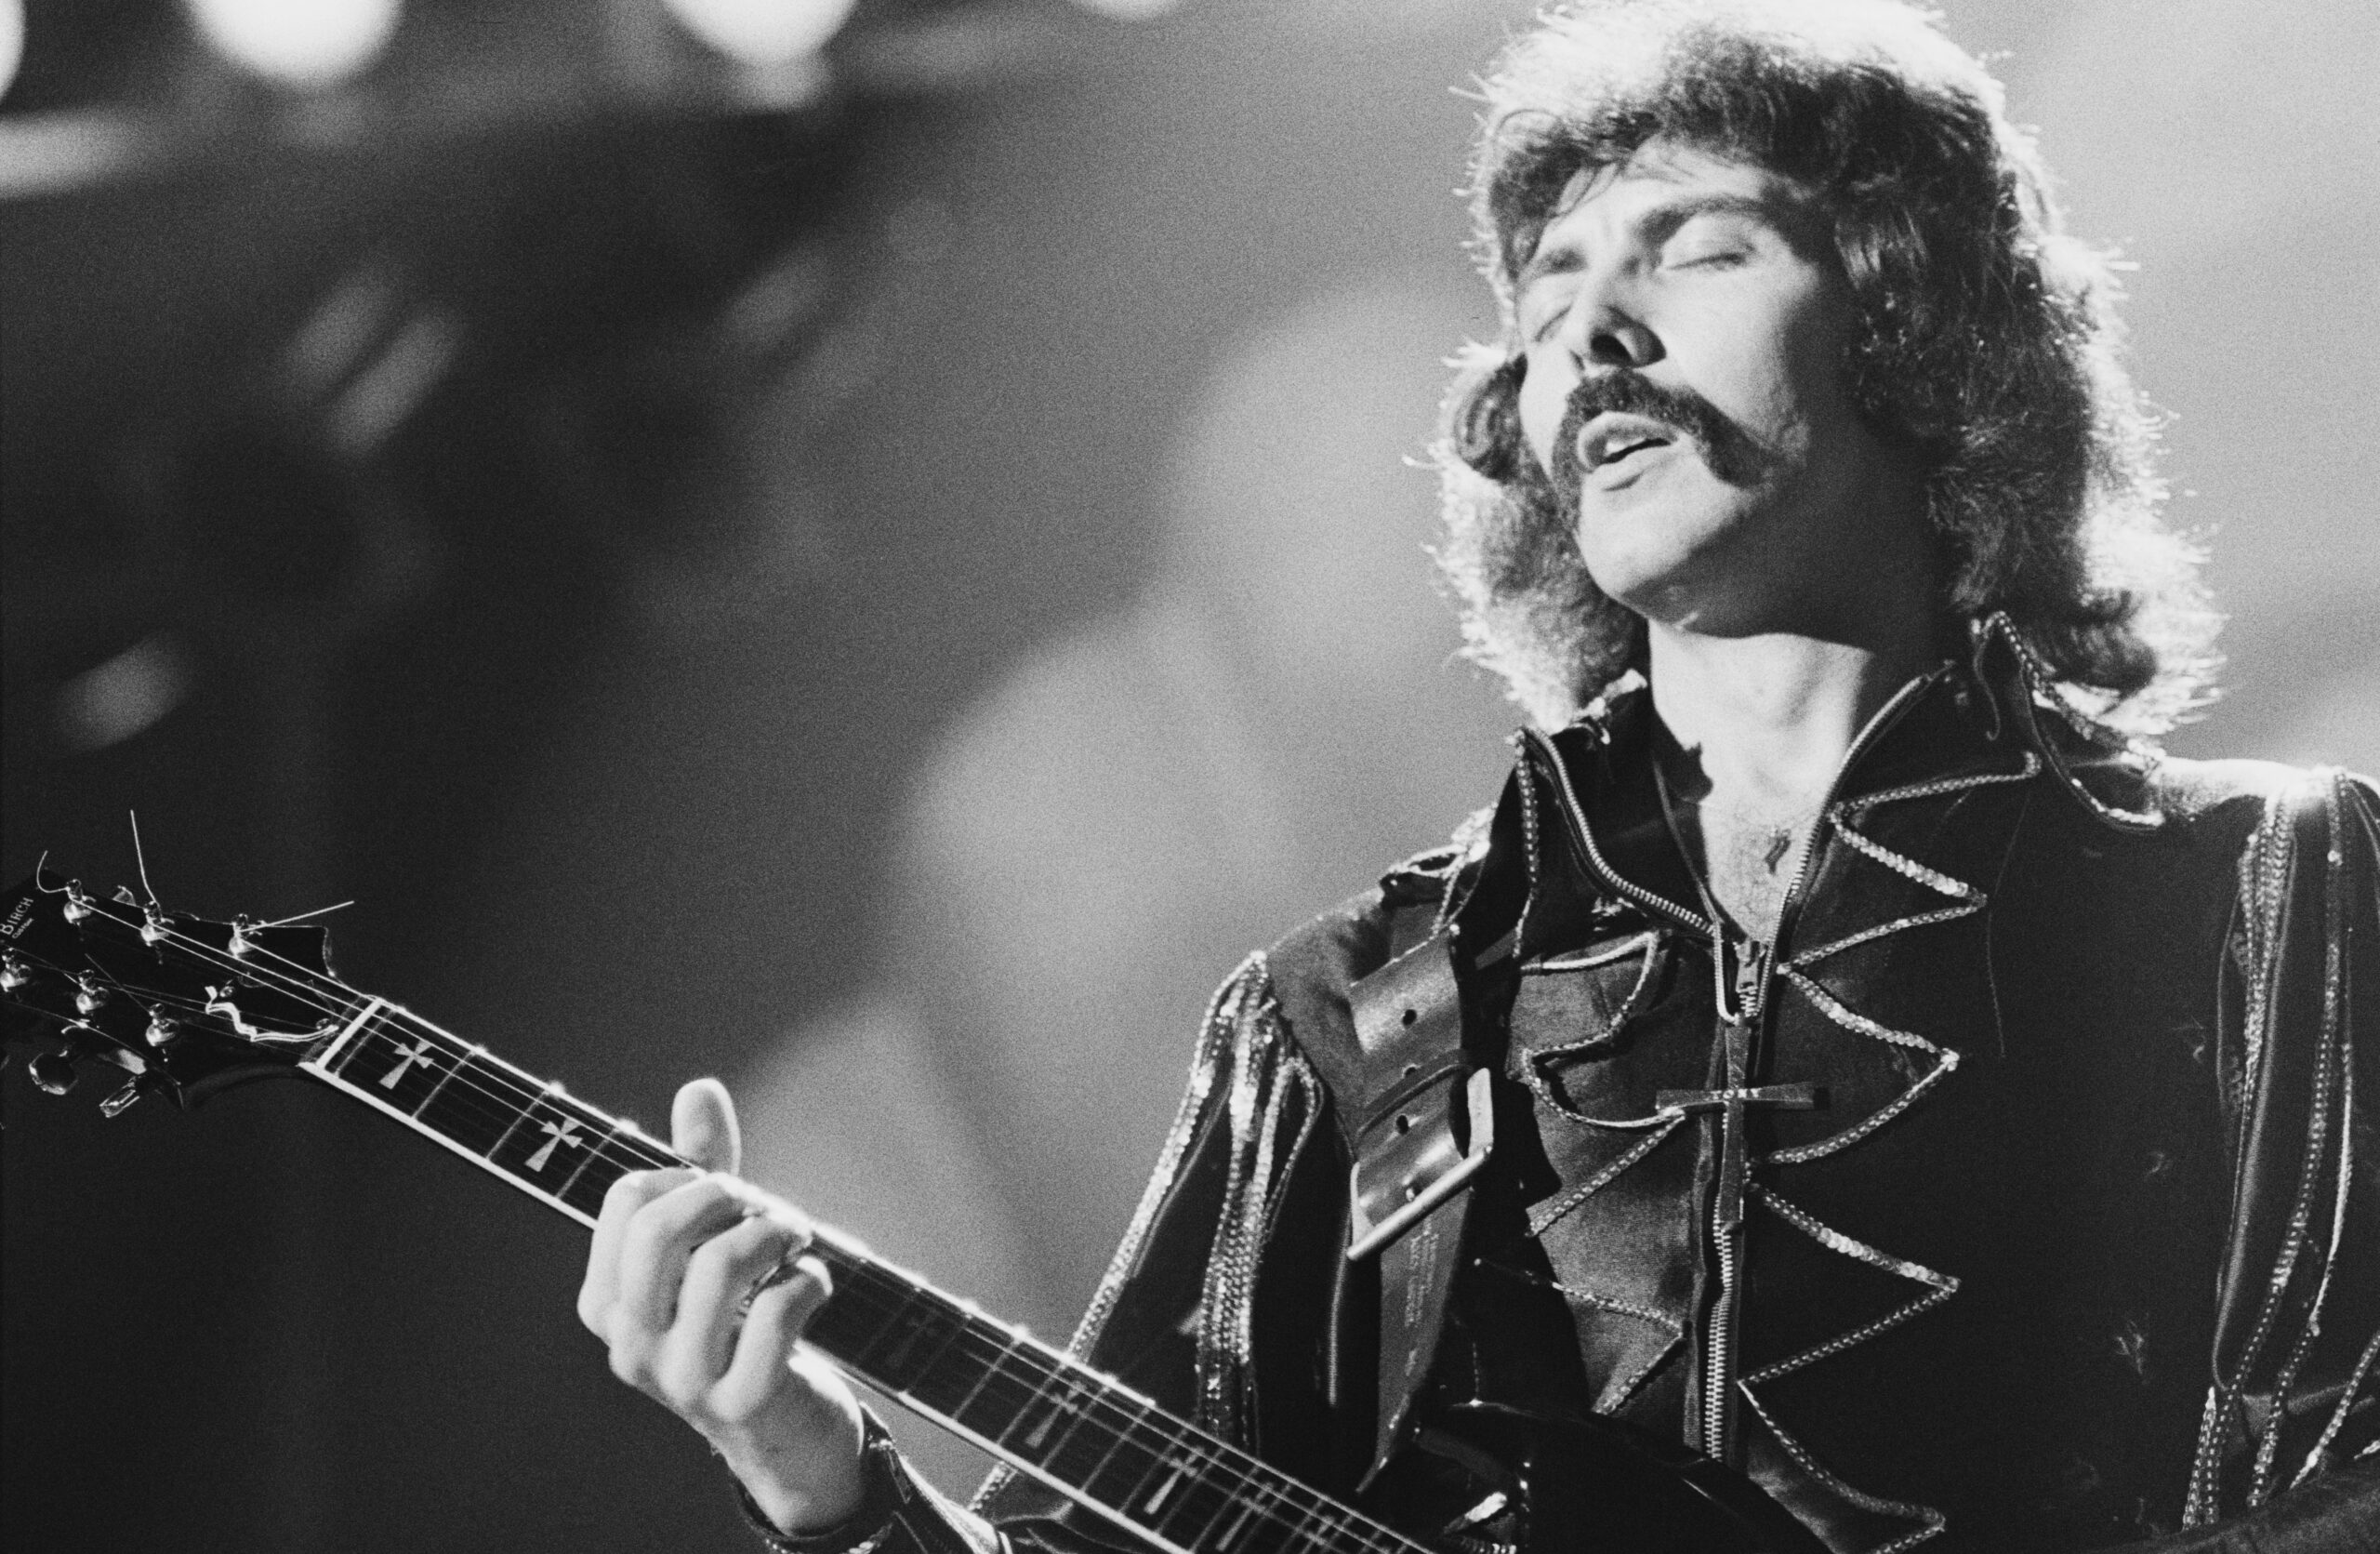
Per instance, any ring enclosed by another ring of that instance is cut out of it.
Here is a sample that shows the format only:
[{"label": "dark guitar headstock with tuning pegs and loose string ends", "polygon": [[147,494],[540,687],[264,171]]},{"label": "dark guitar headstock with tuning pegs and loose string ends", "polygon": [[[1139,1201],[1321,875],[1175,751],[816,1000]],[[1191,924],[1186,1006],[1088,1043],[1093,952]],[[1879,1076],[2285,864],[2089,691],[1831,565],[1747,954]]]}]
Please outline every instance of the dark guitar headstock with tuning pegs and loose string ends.
[{"label": "dark guitar headstock with tuning pegs and loose string ends", "polygon": [[48,869],[0,902],[0,997],[7,1045],[31,1047],[43,1090],[62,1095],[88,1061],[131,1076],[105,1116],[286,1073],[357,1000],[331,976],[321,926],[214,923],[131,890],[102,900]]}]

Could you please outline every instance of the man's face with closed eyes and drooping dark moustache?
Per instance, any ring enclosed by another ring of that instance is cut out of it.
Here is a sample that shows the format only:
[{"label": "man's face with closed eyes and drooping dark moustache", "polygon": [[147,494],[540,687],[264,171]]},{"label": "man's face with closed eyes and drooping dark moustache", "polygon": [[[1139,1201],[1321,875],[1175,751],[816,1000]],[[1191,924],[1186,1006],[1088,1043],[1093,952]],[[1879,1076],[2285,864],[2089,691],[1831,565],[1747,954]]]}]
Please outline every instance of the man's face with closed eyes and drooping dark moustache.
[{"label": "man's face with closed eyes and drooping dark moustache", "polygon": [[1849,288],[1795,183],[1652,143],[1545,228],[1518,319],[1521,431],[1637,614],[1830,631],[1878,543],[1921,543],[1906,459],[1852,407]]}]

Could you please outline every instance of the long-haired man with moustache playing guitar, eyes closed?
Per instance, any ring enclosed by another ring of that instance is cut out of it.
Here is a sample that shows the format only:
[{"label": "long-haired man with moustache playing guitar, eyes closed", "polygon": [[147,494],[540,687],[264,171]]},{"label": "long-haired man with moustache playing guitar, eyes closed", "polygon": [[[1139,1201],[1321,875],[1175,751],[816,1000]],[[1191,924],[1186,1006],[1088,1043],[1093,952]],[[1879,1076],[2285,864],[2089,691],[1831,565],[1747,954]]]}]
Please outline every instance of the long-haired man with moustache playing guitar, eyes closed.
[{"label": "long-haired man with moustache playing guitar, eyes closed", "polygon": [[[1585,5],[1473,193],[1440,559],[1559,733],[1226,983],[1083,1352],[1447,1547],[1583,1547],[1611,1421],[1844,1554],[2380,1544],[2373,792],[2147,745],[2211,616],[1997,86],[1880,0]],[[916,1485],[821,1299],[652,1173],[581,1316],[781,1547],[1102,1537]]]}]

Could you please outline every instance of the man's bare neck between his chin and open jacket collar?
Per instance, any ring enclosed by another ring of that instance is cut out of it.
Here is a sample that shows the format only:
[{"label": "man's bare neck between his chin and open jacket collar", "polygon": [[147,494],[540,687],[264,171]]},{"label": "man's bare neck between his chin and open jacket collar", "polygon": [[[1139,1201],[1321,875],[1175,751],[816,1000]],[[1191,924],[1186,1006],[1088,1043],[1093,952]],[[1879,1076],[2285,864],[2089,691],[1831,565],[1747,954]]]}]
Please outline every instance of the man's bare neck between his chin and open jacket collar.
[{"label": "man's bare neck between his chin and open jacket collar", "polygon": [[1709,792],[1745,809],[1816,804],[1852,740],[1935,664],[1923,621],[1866,643],[1649,628],[1652,704]]}]

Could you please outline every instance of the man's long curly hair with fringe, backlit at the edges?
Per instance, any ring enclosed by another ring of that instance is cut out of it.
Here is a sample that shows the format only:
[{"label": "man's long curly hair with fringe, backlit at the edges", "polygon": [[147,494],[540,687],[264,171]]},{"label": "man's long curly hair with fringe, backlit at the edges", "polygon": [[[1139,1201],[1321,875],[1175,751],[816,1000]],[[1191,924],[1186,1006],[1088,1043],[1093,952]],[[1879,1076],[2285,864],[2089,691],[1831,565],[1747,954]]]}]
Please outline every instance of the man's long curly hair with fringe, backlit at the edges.
[{"label": "man's long curly hair with fringe, backlit at the edges", "polygon": [[2111,262],[2063,233],[1999,83],[1897,0],[1583,0],[1485,81],[1471,167],[1504,319],[1454,362],[1438,564],[1471,657],[1559,726],[1642,666],[1645,626],[1578,554],[1521,440],[1514,276],[1580,171],[1652,140],[1814,190],[1859,321],[1854,405],[1928,471],[1944,624],[2006,612],[2087,716],[2156,735],[2211,697],[2202,552],[2159,509],[2154,421],[2118,359]]}]

